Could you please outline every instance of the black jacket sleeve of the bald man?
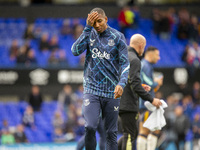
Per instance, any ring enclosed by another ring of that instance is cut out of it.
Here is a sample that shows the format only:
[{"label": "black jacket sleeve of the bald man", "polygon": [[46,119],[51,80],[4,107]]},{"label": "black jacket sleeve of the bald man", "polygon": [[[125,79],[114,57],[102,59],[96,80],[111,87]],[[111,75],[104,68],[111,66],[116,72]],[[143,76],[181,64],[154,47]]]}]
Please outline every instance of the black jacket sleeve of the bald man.
[{"label": "black jacket sleeve of the bald man", "polygon": [[131,68],[129,73],[129,82],[131,83],[131,88],[143,99],[153,102],[153,97],[144,90],[141,85],[140,80],[140,68],[141,63],[139,60],[132,60]]}]

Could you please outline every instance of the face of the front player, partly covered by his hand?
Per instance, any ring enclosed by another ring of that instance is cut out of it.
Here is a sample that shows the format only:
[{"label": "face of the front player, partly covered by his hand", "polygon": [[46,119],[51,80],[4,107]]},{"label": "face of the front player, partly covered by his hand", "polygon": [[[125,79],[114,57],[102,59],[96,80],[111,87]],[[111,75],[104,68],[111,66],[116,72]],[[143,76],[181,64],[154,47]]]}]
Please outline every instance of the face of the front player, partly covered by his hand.
[{"label": "face of the front player, partly covered by his hand", "polygon": [[101,14],[98,14],[98,18],[95,20],[93,27],[98,33],[102,33],[106,30],[108,18]]}]

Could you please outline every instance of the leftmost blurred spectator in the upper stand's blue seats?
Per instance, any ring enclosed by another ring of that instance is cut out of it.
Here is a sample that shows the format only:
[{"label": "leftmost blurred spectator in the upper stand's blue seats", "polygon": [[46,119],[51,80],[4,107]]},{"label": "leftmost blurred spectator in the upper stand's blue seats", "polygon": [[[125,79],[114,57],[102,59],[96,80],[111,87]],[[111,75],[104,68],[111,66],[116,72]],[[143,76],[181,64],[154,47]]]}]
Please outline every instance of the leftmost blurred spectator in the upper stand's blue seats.
[{"label": "leftmost blurred spectator in the upper stand's blue seats", "polygon": [[10,61],[16,60],[18,51],[19,51],[19,43],[18,43],[18,40],[15,39],[15,40],[12,41],[11,47],[10,47],[10,50],[9,50]]}]

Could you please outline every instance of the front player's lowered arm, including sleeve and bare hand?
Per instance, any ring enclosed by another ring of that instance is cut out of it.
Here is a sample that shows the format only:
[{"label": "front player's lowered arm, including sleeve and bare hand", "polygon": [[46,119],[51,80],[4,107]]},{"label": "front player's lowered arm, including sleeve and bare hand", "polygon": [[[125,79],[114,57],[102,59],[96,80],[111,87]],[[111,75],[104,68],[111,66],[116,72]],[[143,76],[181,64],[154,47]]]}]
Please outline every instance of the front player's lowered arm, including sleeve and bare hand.
[{"label": "front player's lowered arm, including sleeve and bare hand", "polygon": [[123,89],[127,83],[128,73],[130,69],[130,63],[128,60],[128,49],[124,35],[121,35],[121,39],[119,41],[119,65],[120,80],[117,86],[115,87],[115,98],[119,98],[120,96],[122,96]]}]

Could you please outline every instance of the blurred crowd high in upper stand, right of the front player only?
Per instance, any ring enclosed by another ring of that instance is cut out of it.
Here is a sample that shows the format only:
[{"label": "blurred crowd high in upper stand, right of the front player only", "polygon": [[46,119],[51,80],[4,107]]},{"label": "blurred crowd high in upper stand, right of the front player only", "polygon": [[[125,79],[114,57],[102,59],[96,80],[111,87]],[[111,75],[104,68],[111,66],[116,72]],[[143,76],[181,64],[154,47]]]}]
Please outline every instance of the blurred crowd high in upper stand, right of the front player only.
[{"label": "blurred crowd high in upper stand, right of the front player only", "polygon": [[[191,14],[186,8],[176,11],[173,7],[167,10],[154,8],[151,19],[152,30],[161,39],[169,39],[172,34],[180,40],[191,42],[200,41],[200,23],[195,14]],[[118,15],[121,32],[125,34],[128,28],[137,28],[140,20],[138,7],[125,6]]]}]

